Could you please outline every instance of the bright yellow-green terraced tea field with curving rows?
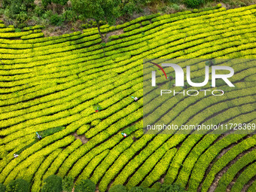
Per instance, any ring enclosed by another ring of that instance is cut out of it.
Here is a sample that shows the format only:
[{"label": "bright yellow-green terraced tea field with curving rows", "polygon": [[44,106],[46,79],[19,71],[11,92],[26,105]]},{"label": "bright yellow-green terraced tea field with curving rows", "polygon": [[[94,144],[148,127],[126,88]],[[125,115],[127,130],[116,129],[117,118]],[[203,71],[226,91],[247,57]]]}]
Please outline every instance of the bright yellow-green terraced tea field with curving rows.
[{"label": "bright yellow-green terraced tea field with curving rows", "polygon": [[[45,38],[40,26],[14,32],[1,23],[0,183],[23,178],[40,191],[56,174],[90,178],[99,191],[158,182],[189,191],[256,191],[253,134],[142,129],[146,58],[251,59],[233,64],[239,90],[218,99],[175,96],[171,112],[183,124],[255,123],[255,16],[256,5],[139,17],[101,26],[104,45],[96,28]],[[196,63],[193,78],[204,67]]]}]

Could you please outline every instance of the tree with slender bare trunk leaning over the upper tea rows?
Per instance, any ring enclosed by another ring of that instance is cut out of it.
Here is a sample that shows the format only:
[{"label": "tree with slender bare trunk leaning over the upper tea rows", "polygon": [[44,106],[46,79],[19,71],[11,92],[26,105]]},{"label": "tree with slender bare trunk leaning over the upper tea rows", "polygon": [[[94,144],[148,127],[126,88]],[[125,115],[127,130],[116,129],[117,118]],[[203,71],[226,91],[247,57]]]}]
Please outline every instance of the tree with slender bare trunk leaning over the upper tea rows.
[{"label": "tree with slender bare trunk leaning over the upper tea rows", "polygon": [[96,20],[103,43],[103,36],[99,30],[99,21],[105,20],[108,24],[113,25],[117,17],[120,16],[119,5],[121,0],[71,0],[71,2],[72,8],[78,14]]}]

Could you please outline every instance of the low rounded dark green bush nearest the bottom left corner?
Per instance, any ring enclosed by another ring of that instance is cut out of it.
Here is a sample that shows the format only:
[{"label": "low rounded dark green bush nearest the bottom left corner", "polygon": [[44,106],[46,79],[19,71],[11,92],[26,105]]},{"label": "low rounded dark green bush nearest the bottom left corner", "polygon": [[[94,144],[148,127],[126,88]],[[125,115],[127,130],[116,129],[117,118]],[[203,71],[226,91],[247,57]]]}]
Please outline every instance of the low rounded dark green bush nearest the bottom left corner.
[{"label": "low rounded dark green bush nearest the bottom left corner", "polygon": [[6,187],[7,192],[29,192],[29,182],[22,178],[11,181]]}]

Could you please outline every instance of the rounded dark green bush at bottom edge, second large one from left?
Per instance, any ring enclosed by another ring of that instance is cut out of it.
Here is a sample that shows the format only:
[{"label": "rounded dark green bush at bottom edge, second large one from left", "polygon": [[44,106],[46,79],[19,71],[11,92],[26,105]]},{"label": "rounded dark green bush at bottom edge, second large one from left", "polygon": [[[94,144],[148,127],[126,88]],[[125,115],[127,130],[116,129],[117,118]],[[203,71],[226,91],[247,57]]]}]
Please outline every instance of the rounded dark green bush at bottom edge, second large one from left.
[{"label": "rounded dark green bush at bottom edge, second large one from left", "polygon": [[44,185],[41,189],[42,192],[61,192],[62,191],[62,178],[58,175],[50,175],[44,179]]}]

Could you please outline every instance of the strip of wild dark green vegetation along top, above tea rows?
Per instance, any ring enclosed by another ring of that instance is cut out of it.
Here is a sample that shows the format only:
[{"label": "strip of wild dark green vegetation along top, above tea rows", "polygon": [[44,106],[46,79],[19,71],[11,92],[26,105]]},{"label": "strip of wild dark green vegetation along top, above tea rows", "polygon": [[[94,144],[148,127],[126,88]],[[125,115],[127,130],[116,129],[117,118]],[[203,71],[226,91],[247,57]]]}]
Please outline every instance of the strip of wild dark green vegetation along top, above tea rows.
[{"label": "strip of wild dark green vegetation along top, above tea rows", "polygon": [[[253,4],[252,0],[224,0],[227,8]],[[8,25],[22,29],[25,26],[62,26],[66,30],[118,24],[146,14],[170,14],[194,8],[211,8],[213,0],[2,0],[1,19]],[[185,6],[184,6],[185,5]],[[136,15],[136,16],[135,16]],[[146,24],[146,23],[145,23]],[[65,33],[65,31],[63,31]]]}]

